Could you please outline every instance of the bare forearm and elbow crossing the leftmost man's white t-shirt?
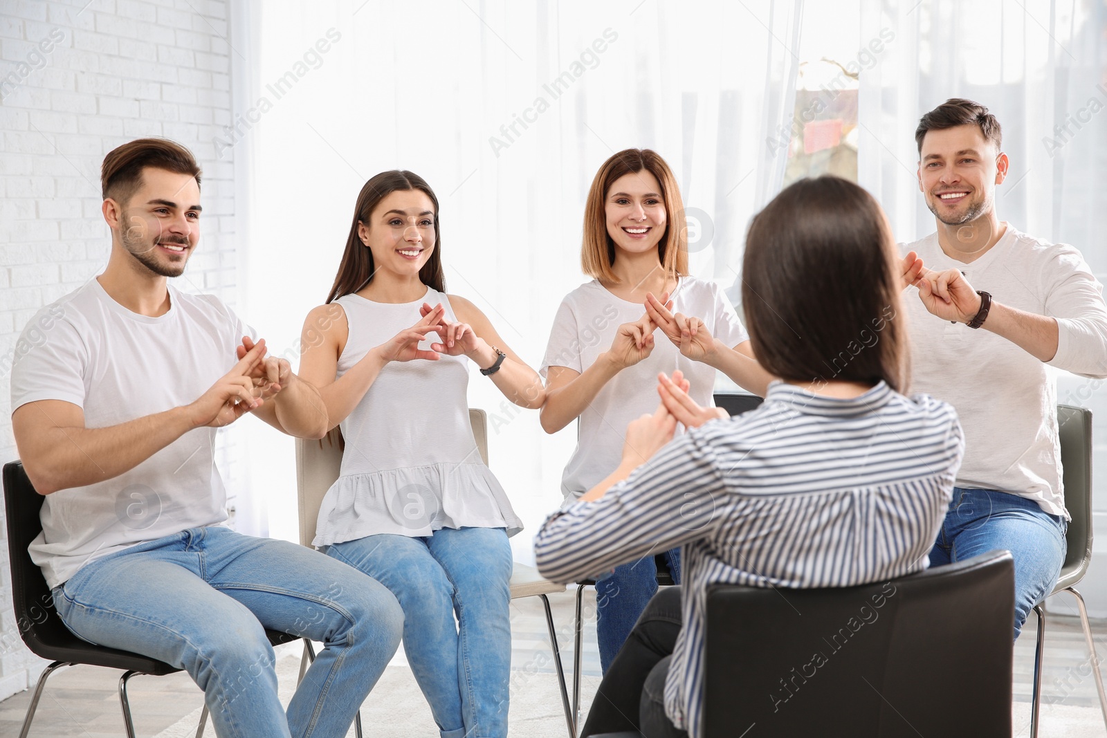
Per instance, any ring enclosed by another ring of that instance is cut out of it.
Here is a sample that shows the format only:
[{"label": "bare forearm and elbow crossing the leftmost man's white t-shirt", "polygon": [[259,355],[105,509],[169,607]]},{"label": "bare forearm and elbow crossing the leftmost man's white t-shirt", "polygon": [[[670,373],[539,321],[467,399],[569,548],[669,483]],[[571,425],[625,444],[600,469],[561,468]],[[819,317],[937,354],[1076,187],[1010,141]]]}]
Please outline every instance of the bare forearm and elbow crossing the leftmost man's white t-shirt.
[{"label": "bare forearm and elbow crossing the leftmost man's white t-shirt", "polygon": [[[32,414],[39,417],[30,417]],[[50,415],[41,403],[31,403],[12,416],[20,458],[40,495],[117,477],[194,428],[184,407],[106,428],[66,426],[63,419],[55,422]],[[38,432],[21,433],[30,423],[38,426]],[[28,441],[28,436],[33,436],[34,441]]]}]

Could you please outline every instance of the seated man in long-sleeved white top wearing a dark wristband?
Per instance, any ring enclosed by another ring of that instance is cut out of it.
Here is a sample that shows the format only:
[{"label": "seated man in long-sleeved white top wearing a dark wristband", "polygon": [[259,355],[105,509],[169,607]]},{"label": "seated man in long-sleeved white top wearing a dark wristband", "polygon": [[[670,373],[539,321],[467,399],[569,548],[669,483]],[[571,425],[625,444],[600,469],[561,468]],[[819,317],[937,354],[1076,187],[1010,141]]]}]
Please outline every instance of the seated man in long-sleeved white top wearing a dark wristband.
[{"label": "seated man in long-sleeved white top wearing a dark wristband", "polygon": [[1053,591],[1069,516],[1056,386],[1047,365],[1107,376],[1103,285],[1080,252],[1001,221],[1007,176],[1000,123],[952,98],[915,131],[919,189],[938,231],[902,247],[912,391],[952,404],[965,435],[931,565],[993,549],[1015,560],[1014,635]]}]

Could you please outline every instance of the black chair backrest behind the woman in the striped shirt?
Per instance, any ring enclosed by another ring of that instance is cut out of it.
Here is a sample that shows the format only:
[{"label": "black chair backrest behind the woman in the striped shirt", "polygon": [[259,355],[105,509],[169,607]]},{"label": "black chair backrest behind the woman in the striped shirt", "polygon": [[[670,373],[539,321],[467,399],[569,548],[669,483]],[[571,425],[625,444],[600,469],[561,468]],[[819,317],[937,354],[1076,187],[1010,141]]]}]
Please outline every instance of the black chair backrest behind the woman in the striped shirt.
[{"label": "black chair backrest behind the woman in the striped shirt", "polygon": [[705,736],[1010,737],[1014,571],[992,551],[861,586],[708,586]]}]

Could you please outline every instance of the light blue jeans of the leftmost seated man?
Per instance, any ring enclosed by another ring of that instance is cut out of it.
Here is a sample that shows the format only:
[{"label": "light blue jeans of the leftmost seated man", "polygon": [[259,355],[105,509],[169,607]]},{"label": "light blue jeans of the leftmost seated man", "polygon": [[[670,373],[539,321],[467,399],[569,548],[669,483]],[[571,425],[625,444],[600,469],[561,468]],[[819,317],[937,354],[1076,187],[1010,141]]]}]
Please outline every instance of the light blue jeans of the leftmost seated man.
[{"label": "light blue jeans of the leftmost seated man", "polygon": [[[345,736],[403,627],[396,599],[361,572],[227,528],[192,528],[97,559],[53,599],[81,638],[188,672],[220,738]],[[287,715],[267,627],[325,646]]]}]

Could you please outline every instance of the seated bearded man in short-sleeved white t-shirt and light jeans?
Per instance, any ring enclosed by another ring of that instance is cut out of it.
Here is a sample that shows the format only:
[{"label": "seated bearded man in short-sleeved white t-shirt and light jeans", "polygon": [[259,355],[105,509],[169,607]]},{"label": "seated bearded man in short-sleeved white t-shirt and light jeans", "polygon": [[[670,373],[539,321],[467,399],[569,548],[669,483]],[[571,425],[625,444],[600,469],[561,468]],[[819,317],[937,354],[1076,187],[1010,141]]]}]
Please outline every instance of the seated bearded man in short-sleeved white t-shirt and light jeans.
[{"label": "seated bearded man in short-sleeved white t-shirt and light jeans", "polygon": [[[321,438],[319,392],[219,300],[168,283],[199,239],[187,148],[124,144],[102,186],[107,267],[31,320],[12,367],[15,443],[45,496],[31,558],[73,633],[187,671],[219,736],[345,736],[400,604],[334,559],[227,528],[213,453],[247,413]],[[287,714],[266,628],[325,644]]]}]

